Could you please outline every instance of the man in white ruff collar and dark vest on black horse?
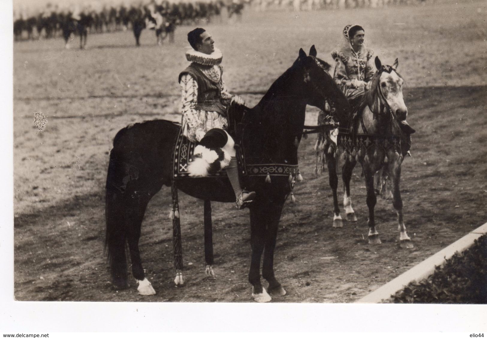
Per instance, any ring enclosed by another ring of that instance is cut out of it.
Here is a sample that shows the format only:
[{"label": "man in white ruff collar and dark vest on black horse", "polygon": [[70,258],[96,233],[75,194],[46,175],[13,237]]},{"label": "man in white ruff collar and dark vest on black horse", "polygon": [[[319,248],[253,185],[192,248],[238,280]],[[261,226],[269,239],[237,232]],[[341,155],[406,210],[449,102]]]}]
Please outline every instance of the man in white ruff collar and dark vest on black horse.
[{"label": "man in white ruff collar and dark vest on black horse", "polygon": [[[186,59],[191,64],[179,74],[183,134],[190,141],[200,143],[195,148],[195,155],[199,154],[200,159],[206,160],[205,155],[210,153],[209,148],[222,148],[225,155],[221,156],[219,165],[225,168],[230,179],[237,208],[243,209],[252,202],[255,192],[247,192],[241,188],[234,141],[225,129],[228,127],[227,107],[232,103],[244,105],[244,100],[226,90],[222,78],[222,52],[214,47],[215,42],[208,32],[203,28],[196,28],[187,34],[187,40],[192,49],[187,51]],[[219,144],[216,145],[217,143]],[[210,160],[201,162],[206,165],[204,171],[213,165]],[[195,161],[192,165],[196,166]],[[202,172],[201,176],[205,176],[205,173]]]}]

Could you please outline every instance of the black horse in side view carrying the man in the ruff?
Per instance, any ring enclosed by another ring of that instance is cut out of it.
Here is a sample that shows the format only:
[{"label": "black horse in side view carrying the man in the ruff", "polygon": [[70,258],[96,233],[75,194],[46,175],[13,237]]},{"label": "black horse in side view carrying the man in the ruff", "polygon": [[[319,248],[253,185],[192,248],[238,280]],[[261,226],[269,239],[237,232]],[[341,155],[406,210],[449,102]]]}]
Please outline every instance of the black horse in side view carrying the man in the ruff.
[{"label": "black horse in side view carrying the man in the ruff", "polygon": [[[243,144],[246,157],[258,158],[263,163],[287,163],[297,167],[306,105],[324,108],[328,101],[337,113],[343,115],[350,109],[347,99],[326,72],[329,65],[316,57],[314,46],[309,54],[307,56],[301,49],[297,60],[272,84],[259,104],[245,112]],[[132,274],[139,283],[139,293],[155,293],[144,275],[138,242],[147,204],[163,185],[171,186],[173,196],[176,284],[183,283],[177,190],[205,200],[205,207],[209,206],[210,200],[235,202],[226,177],[173,179],[171,154],[179,131],[180,126],[169,121],[146,121],[120,130],[113,140],[106,184],[105,245],[115,287],[128,287],[125,255],[125,243],[128,242]],[[269,293],[285,294],[274,276],[274,249],[282,207],[295,178],[291,175],[272,176],[270,180],[263,176],[243,178],[244,186],[257,193],[249,206],[252,258],[248,279],[258,302],[271,300],[261,284],[262,252],[262,277],[269,283]],[[210,217],[205,213],[205,227]]]}]

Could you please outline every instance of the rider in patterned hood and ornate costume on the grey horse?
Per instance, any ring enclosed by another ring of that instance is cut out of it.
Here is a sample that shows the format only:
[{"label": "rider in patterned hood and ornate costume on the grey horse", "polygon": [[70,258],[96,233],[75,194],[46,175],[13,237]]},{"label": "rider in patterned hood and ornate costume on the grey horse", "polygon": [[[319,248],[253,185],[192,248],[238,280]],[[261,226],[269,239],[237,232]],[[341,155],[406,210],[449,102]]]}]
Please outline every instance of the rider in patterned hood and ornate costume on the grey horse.
[{"label": "rider in patterned hood and ornate costume on the grey horse", "polygon": [[[332,52],[336,61],[333,78],[354,108],[369,90],[370,80],[375,74],[374,51],[364,45],[365,31],[359,25],[345,26],[343,36],[345,46]],[[406,134],[415,131],[406,120],[401,121],[400,126]]]}]

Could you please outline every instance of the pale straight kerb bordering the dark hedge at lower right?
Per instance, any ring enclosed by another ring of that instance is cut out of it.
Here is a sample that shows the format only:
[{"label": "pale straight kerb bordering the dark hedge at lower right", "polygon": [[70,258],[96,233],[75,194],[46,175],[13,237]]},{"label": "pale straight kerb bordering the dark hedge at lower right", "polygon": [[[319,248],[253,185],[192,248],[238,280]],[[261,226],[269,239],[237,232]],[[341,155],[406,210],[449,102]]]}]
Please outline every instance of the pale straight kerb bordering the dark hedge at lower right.
[{"label": "pale straight kerb bordering the dark hedge at lower right", "polygon": [[382,285],[375,291],[369,293],[367,296],[359,299],[356,303],[378,303],[382,300],[388,299],[391,295],[402,289],[411,282],[419,282],[434,272],[435,267],[441,266],[447,259],[455,254],[455,252],[462,252],[470,248],[474,240],[487,233],[487,223],[470,231],[468,234],[460,238],[458,241],[450,244],[445,249],[442,249],[412,267],[408,271],[394,278],[391,282]]}]

